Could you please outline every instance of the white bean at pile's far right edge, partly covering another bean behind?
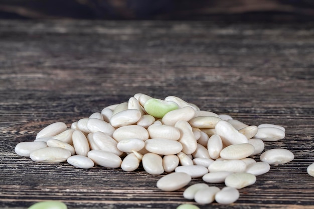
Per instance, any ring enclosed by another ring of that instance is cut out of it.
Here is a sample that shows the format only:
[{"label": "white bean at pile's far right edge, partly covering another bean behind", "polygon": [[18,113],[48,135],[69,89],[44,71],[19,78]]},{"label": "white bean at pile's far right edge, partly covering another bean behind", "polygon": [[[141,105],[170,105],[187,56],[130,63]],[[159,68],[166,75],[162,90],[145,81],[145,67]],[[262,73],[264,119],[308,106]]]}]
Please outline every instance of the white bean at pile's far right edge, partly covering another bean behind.
[{"label": "white bean at pile's far right edge, partly covering another bean behind", "polygon": [[283,139],[285,133],[283,130],[274,127],[258,128],[258,131],[254,138],[261,139],[263,141],[278,141]]}]

